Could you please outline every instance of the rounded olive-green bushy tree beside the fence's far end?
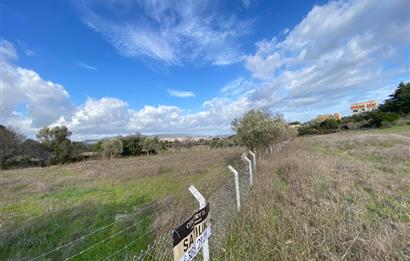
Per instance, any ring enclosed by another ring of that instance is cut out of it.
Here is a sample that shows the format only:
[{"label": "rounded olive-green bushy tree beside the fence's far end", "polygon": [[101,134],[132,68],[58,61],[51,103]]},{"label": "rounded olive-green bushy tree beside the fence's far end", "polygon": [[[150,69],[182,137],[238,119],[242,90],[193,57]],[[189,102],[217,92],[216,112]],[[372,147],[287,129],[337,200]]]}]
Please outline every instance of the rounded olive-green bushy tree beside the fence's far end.
[{"label": "rounded olive-green bushy tree beside the fence's far end", "polygon": [[268,110],[250,110],[232,122],[232,129],[241,145],[250,149],[261,149],[285,139],[289,128],[280,114],[272,115]]}]

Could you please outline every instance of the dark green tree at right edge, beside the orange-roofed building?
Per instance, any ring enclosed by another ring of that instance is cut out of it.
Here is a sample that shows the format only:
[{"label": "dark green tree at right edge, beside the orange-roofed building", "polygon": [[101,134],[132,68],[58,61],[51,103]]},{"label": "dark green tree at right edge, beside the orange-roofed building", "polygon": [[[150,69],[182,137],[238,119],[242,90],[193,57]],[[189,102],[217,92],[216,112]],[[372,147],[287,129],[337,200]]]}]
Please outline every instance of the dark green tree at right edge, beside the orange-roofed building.
[{"label": "dark green tree at right edge, beside the orange-roofed building", "polygon": [[380,106],[382,112],[410,113],[410,82],[401,82],[390,98]]}]

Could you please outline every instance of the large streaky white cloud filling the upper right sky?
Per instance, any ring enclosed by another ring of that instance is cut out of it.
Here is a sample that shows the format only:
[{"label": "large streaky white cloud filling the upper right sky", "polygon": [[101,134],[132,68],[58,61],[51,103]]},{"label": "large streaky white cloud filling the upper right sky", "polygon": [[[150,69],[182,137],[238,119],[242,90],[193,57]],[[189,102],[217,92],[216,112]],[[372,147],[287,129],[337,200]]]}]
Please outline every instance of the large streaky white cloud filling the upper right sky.
[{"label": "large streaky white cloud filling the upper right sky", "polygon": [[[331,1],[315,6],[282,41],[261,40],[245,67],[263,82],[250,99],[318,109],[408,78],[408,1]],[[273,99],[272,95],[281,98]],[[373,97],[375,98],[375,97]],[[377,98],[377,97],[376,97]]]}]

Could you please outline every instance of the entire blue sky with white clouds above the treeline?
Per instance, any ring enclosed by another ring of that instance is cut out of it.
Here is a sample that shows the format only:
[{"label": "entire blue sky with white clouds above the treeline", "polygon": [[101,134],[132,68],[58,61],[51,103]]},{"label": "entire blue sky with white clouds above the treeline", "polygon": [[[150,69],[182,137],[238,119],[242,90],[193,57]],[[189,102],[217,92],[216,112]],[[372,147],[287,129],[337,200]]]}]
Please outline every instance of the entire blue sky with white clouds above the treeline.
[{"label": "entire blue sky with white clouds above the treeline", "polygon": [[408,0],[2,0],[0,124],[77,140],[350,114],[410,80]]}]

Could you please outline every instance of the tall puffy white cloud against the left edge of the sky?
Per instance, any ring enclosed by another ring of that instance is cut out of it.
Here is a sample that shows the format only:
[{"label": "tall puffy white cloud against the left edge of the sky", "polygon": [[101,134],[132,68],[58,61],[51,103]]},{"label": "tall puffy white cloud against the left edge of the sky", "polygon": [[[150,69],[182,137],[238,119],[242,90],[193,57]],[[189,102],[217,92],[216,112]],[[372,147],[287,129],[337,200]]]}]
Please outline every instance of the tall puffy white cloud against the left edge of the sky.
[{"label": "tall puffy white cloud against the left edge of the sky", "polygon": [[48,125],[74,109],[63,86],[43,80],[36,72],[13,64],[17,54],[10,42],[4,41],[1,53],[1,121],[9,122],[19,115],[16,108],[24,106],[30,126]]}]

